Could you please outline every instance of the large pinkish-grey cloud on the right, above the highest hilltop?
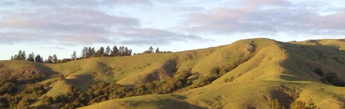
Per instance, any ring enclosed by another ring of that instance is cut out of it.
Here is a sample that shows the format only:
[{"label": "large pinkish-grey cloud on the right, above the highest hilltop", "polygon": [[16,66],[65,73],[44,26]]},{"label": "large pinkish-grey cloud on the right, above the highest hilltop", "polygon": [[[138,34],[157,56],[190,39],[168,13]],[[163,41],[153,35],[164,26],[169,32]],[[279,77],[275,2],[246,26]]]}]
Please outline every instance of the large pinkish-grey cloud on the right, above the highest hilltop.
[{"label": "large pinkish-grey cloud on the right, above the highest hilltop", "polygon": [[187,14],[184,25],[179,27],[189,32],[218,34],[307,34],[316,31],[344,31],[345,11],[322,15],[327,12],[328,6],[329,3],[324,2],[243,0],[241,5],[235,8],[221,7]]}]

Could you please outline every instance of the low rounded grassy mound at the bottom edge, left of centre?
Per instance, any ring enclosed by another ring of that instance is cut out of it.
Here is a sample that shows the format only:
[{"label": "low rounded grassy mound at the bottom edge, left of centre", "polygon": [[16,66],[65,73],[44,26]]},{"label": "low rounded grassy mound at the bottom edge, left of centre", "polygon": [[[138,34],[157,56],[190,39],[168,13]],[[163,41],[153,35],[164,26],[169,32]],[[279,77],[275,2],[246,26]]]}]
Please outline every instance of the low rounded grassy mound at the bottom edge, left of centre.
[{"label": "low rounded grassy mound at the bottom edge, left of centre", "polygon": [[180,95],[146,95],[109,100],[80,109],[207,109],[192,105]]}]

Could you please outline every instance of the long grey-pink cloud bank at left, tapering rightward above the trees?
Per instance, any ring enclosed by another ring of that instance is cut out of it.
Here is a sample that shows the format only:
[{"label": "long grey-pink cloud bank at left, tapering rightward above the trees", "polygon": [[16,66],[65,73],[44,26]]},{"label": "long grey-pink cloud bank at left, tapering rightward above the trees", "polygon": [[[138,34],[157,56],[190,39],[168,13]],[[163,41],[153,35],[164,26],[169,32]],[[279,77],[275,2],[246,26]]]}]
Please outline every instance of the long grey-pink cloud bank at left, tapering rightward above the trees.
[{"label": "long grey-pink cloud bank at left, tapering rightward above the trees", "polygon": [[[83,3],[87,4],[91,1]],[[31,0],[30,2],[50,4],[58,1]],[[81,1],[66,2],[78,3]],[[129,0],[128,2],[134,1]],[[26,6],[14,8],[16,10],[1,10],[3,12],[0,14],[1,44],[168,45],[173,41],[204,40],[197,35],[187,35],[164,29],[140,28],[140,20],[136,18],[112,15],[95,8],[46,7],[42,5],[35,8]],[[191,9],[200,10],[200,8]]]}]

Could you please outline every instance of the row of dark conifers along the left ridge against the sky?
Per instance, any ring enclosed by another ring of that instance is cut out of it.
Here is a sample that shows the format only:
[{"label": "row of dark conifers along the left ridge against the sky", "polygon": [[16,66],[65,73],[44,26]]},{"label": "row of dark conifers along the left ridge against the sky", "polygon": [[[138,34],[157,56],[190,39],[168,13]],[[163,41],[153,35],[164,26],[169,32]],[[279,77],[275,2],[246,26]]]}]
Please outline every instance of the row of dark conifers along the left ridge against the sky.
[{"label": "row of dark conifers along the left ridge against the sky", "polygon": [[[159,48],[156,49],[154,52],[154,48],[150,46],[150,48],[142,53],[134,53],[133,55],[140,55],[140,54],[147,54],[147,53],[162,53]],[[171,52],[171,51],[164,51],[164,52]],[[35,55],[31,52],[28,56],[24,50],[19,50],[18,54],[11,56],[11,60],[26,60],[32,62],[39,62],[39,63],[65,63],[68,61],[79,60],[79,59],[86,59],[91,57],[119,57],[119,56],[132,56],[132,50],[125,46],[114,46],[110,48],[107,46],[106,48],[100,47],[98,50],[95,47],[83,47],[81,50],[81,55],[78,57],[77,52],[73,51],[71,58],[65,59],[58,59],[57,55],[48,56],[47,59],[43,59],[39,54]]]}]

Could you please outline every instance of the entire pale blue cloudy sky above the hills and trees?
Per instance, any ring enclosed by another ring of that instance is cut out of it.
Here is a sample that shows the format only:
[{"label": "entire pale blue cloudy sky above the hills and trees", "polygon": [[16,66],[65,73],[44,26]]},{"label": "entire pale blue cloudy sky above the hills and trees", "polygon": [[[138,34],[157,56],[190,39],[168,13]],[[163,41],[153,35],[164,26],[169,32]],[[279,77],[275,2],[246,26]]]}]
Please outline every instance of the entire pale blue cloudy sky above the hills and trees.
[{"label": "entire pale blue cloudy sky above the hills and trees", "polygon": [[83,47],[184,51],[236,40],[345,38],[345,0],[1,0],[0,60]]}]

